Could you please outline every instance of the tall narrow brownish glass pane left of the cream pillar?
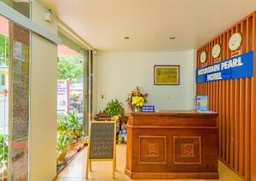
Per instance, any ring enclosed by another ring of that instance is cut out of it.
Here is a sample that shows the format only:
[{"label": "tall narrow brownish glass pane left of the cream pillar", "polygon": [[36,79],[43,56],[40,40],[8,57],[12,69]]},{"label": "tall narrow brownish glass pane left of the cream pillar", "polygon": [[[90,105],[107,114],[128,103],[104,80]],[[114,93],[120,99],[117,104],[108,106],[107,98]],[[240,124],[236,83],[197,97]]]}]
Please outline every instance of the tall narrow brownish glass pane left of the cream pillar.
[{"label": "tall narrow brownish glass pane left of the cream pillar", "polygon": [[12,85],[12,140],[11,175],[14,180],[28,178],[29,133],[29,48],[30,31],[13,24],[11,85]]}]

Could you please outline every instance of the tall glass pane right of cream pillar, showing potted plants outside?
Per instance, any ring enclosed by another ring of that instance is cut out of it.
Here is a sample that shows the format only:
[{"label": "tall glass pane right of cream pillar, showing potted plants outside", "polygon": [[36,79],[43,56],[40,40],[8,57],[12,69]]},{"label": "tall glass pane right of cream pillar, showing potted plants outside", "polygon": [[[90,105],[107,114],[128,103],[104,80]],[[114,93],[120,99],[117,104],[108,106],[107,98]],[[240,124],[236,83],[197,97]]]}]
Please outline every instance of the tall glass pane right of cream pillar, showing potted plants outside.
[{"label": "tall glass pane right of cream pillar, showing potted plants outside", "polygon": [[58,46],[57,155],[60,170],[84,146],[83,130],[84,56],[65,45]]}]

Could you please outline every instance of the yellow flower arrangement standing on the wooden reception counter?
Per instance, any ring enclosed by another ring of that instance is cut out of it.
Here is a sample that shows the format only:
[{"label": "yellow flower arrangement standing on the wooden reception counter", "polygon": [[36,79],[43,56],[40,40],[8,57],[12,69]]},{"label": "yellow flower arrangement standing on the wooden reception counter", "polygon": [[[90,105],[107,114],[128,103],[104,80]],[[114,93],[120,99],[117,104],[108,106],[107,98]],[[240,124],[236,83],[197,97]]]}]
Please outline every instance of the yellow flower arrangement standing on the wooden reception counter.
[{"label": "yellow flower arrangement standing on the wooden reception counter", "polygon": [[140,111],[144,104],[148,102],[148,93],[142,93],[140,88],[137,88],[128,95],[126,102],[132,111]]}]

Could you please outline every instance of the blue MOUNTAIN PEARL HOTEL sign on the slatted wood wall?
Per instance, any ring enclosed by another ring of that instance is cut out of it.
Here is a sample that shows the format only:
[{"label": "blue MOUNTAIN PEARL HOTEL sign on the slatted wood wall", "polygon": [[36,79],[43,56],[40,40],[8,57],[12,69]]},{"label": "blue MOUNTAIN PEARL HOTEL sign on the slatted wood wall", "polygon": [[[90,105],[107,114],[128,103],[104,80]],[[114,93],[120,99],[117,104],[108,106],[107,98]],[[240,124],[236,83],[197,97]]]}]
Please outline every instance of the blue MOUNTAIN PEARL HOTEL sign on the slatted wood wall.
[{"label": "blue MOUNTAIN PEARL HOTEL sign on the slatted wood wall", "polygon": [[253,52],[240,54],[196,70],[196,82],[213,82],[253,76]]}]

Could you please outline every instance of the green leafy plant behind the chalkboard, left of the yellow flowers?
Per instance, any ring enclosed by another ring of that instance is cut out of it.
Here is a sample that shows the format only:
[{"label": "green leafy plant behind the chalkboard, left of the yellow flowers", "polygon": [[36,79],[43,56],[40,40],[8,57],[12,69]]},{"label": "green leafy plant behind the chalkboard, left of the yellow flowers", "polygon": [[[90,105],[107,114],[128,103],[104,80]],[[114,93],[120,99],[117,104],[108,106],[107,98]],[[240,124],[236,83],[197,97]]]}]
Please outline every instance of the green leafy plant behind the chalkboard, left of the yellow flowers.
[{"label": "green leafy plant behind the chalkboard, left of the yellow flowers", "polygon": [[106,112],[108,112],[108,116],[124,116],[125,109],[117,99],[112,99],[108,102],[108,105],[105,109]]}]

